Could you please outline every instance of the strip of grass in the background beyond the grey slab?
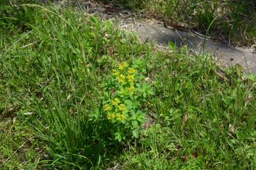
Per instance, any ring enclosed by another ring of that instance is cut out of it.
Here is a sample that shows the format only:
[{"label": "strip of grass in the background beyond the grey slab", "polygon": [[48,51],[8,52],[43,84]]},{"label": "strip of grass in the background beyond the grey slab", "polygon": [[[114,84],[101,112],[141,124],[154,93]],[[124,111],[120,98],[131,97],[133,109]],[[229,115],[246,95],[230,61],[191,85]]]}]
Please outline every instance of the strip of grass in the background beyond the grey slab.
[{"label": "strip of grass in the background beyond the grey slab", "polygon": [[[103,2],[109,3],[106,0]],[[202,34],[209,34],[220,41],[237,46],[251,46],[256,43],[255,1],[114,1],[133,11],[143,11],[145,16],[157,18],[169,26],[189,28]],[[210,27],[210,31],[206,30]]]}]

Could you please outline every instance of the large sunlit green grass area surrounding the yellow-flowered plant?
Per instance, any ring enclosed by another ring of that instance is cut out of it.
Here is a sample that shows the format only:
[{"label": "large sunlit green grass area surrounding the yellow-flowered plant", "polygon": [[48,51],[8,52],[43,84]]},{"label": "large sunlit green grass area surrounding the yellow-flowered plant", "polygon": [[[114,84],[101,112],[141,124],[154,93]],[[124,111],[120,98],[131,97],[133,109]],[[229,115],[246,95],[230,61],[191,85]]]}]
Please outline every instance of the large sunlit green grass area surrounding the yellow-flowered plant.
[{"label": "large sunlit green grass area surrounding the yellow-flowered plant", "polygon": [[[218,80],[211,56],[158,51],[74,9],[0,16],[0,169],[256,168],[253,75]],[[155,93],[140,104],[150,128],[118,142],[103,85],[135,60]]]}]

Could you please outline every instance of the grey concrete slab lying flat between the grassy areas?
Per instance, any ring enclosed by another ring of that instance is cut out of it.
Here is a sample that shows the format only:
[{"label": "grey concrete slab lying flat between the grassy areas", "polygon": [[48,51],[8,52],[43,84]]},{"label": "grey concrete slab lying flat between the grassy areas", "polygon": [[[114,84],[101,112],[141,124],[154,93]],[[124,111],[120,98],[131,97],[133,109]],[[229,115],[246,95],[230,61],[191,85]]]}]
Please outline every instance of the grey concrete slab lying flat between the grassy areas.
[{"label": "grey concrete slab lying flat between the grassy areas", "polygon": [[[136,31],[140,38],[155,41],[164,46],[168,46],[168,42],[171,41],[178,47],[188,46],[198,53],[211,53],[215,55],[216,58],[232,65],[239,63],[246,73],[256,74],[256,54],[250,53],[249,51],[242,51],[200,36],[163,28],[158,25],[138,23]],[[203,46],[204,44],[205,46]]]}]

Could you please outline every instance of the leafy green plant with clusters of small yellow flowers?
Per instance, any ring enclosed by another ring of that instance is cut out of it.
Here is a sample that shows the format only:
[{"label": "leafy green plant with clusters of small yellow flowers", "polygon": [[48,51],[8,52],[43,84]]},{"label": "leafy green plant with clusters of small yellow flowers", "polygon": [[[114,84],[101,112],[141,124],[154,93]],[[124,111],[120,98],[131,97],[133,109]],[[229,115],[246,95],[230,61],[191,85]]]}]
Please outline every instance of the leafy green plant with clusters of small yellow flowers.
[{"label": "leafy green plant with clusters of small yellow flowers", "polygon": [[113,124],[113,135],[119,142],[126,137],[138,137],[145,121],[145,110],[140,109],[147,95],[153,95],[138,64],[119,63],[104,85],[103,116]]}]

